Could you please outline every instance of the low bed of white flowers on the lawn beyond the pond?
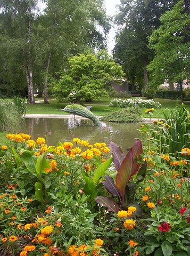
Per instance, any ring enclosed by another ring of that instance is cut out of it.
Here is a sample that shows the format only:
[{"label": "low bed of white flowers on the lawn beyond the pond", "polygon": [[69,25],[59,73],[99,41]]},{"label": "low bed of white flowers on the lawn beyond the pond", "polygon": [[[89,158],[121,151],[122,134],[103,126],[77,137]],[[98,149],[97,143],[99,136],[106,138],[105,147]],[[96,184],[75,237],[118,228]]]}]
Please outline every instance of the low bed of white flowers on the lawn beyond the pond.
[{"label": "low bed of white flowers on the lawn beyond the pond", "polygon": [[135,99],[113,99],[110,102],[110,107],[120,107],[120,108],[127,108],[127,107],[139,107],[139,108],[161,108],[162,105],[159,102],[156,102],[152,99],[150,100],[143,100],[141,98]]}]

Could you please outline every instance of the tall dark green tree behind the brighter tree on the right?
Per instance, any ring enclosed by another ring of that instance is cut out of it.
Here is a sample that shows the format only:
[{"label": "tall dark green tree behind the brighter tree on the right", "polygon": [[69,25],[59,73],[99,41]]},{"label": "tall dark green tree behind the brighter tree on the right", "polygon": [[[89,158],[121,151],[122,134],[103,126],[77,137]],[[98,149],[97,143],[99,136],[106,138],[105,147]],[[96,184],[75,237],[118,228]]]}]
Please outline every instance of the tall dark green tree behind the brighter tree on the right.
[{"label": "tall dark green tree behind the brighter tree on the right", "polygon": [[147,65],[153,58],[148,48],[148,36],[160,25],[159,18],[176,1],[122,0],[115,17],[119,32],[113,50],[114,58],[121,63],[128,81],[135,84],[148,83]]}]

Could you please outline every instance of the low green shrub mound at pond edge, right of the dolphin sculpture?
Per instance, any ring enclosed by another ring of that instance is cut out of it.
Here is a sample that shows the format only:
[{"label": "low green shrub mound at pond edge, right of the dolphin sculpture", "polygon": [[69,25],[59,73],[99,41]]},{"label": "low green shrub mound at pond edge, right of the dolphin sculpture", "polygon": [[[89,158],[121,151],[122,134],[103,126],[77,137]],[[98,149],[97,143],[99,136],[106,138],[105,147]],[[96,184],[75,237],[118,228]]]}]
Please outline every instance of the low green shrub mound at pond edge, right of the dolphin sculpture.
[{"label": "low green shrub mound at pond edge, right of the dolphin sculpture", "polygon": [[109,122],[139,122],[141,121],[141,109],[138,107],[130,107],[122,110],[113,111],[103,116],[103,121]]}]

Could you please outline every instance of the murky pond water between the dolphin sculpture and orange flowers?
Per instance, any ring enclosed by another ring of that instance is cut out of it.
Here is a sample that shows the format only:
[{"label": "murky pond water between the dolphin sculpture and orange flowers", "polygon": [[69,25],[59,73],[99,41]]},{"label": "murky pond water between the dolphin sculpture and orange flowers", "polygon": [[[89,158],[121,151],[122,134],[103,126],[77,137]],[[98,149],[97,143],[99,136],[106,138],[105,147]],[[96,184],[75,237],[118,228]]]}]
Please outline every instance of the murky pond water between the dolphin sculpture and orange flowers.
[{"label": "murky pond water between the dolphin sculpture and orange flowers", "polygon": [[48,146],[57,145],[60,140],[72,141],[72,138],[88,140],[90,144],[109,140],[120,146],[123,152],[133,146],[139,137],[137,129],[141,123],[101,122],[95,126],[89,119],[77,118],[25,118],[21,132],[28,133],[32,139],[46,137]]}]

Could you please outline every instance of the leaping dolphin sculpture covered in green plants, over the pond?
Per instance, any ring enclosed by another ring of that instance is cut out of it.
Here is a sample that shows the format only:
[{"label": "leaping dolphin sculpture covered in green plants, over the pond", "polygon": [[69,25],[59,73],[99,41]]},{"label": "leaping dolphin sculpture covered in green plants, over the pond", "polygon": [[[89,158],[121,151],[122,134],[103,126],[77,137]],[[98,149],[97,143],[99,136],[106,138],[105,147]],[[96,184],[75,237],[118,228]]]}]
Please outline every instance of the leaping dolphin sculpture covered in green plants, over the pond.
[{"label": "leaping dolphin sculpture covered in green plants, over the pond", "polygon": [[87,108],[81,105],[78,105],[78,104],[68,105],[63,110],[69,114],[89,118],[93,121],[95,125],[100,125],[100,120],[90,110],[88,110]]}]

